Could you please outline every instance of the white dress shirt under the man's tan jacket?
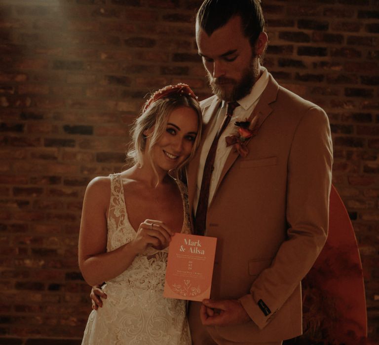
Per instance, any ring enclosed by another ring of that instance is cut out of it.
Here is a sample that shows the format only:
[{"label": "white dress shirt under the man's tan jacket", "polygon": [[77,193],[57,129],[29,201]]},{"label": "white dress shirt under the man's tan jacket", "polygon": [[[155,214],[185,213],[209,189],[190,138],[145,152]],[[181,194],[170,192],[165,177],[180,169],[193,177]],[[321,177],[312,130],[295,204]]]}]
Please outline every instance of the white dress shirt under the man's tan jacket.
[{"label": "white dress shirt under the man's tan jacket", "polygon": [[[225,137],[231,136],[237,133],[237,127],[234,125],[234,123],[236,121],[244,121],[246,118],[248,118],[251,115],[263,91],[265,90],[265,87],[267,86],[267,83],[268,83],[267,69],[262,68],[262,67],[261,69],[263,69],[263,73],[254,84],[253,88],[251,89],[251,92],[247,96],[242,98],[241,100],[237,101],[240,106],[237,106],[234,109],[233,116],[231,117],[230,122],[227,125],[227,128],[224,130],[223,134],[221,135],[218,141],[215,162],[213,164],[214,170],[212,172],[211,183],[209,186],[208,206],[212,201],[217,183],[220,179],[221,172],[227,160],[227,156],[229,155],[230,150],[233,147],[232,145],[227,146]],[[196,193],[194,195],[194,200],[193,200],[194,214],[196,213],[197,203],[199,200],[201,180],[203,178],[205,160],[207,158],[208,151],[211,148],[212,141],[215,138],[216,133],[225,118],[226,111],[227,111],[227,103],[223,101],[222,106],[217,114],[217,119],[216,121],[213,122],[213,126],[209,129],[208,136],[207,138],[205,138],[203,147],[201,149],[199,170],[197,172]]]}]

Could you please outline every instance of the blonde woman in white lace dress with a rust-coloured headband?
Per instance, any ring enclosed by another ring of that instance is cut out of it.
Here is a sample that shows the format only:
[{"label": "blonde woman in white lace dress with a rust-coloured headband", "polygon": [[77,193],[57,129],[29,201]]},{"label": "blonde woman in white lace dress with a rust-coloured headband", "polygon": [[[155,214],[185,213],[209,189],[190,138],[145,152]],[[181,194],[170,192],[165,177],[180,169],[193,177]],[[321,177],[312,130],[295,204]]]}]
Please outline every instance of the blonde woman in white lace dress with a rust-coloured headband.
[{"label": "blonde woman in white lace dress with a rust-coloured headband", "polygon": [[[184,300],[163,297],[168,245],[190,233],[179,179],[200,140],[201,111],[186,84],[152,95],[135,121],[134,166],[87,186],[79,267],[107,299],[88,318],[82,344],[191,344]],[[174,174],[174,176],[172,175]]]}]

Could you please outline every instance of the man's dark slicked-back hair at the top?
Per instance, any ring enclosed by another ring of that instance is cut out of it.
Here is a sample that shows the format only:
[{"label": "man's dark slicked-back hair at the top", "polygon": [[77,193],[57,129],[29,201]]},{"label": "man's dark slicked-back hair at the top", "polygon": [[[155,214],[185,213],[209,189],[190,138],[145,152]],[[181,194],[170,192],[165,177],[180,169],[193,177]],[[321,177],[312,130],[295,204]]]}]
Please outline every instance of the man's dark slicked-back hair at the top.
[{"label": "man's dark slicked-back hair at the top", "polygon": [[265,27],[260,0],[205,0],[197,11],[196,22],[210,36],[234,16],[241,17],[242,31],[253,47]]}]

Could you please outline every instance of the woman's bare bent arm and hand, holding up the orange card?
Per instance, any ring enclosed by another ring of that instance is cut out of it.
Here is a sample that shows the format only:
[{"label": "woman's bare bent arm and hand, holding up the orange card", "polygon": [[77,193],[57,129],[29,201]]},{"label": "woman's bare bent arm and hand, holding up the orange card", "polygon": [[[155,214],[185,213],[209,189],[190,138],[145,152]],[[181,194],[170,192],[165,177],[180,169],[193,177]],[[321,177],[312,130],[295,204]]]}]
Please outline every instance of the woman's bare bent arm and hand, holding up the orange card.
[{"label": "woman's bare bent arm and hand, holding up the orange card", "polygon": [[[107,210],[111,182],[96,177],[84,195],[79,233],[79,268],[89,285],[98,285],[124,272],[147,246],[167,246],[171,231],[162,222],[147,219],[135,239],[107,252]],[[151,223],[153,228],[151,228]]]}]

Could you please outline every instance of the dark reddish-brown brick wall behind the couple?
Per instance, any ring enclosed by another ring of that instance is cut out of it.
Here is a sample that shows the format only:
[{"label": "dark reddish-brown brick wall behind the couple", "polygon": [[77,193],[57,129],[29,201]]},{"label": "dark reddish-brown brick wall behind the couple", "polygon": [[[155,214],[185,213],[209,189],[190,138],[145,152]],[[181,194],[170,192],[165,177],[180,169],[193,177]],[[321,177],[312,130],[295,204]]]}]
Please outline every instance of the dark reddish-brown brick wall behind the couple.
[{"label": "dark reddish-brown brick wall behind the couple", "polygon": [[[0,1],[0,344],[78,343],[90,311],[77,267],[85,186],[122,168],[148,91],[186,82],[209,95],[193,35],[200,2]],[[379,1],[264,8],[265,66],[329,115],[377,344]]]}]

